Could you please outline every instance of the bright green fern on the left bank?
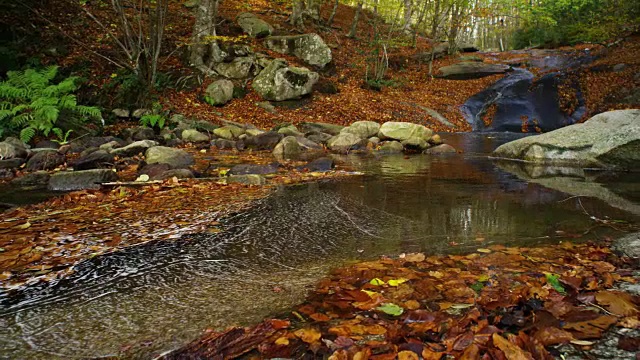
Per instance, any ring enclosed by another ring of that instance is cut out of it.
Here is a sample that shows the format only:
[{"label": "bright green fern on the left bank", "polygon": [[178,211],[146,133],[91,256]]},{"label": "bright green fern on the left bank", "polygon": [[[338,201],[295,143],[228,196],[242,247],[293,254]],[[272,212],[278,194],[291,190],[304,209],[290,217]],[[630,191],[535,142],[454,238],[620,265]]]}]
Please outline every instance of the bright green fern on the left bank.
[{"label": "bright green fern on the left bank", "polygon": [[[0,82],[0,132],[19,132],[26,143],[38,132],[49,136],[58,128],[61,117],[82,122],[101,118],[98,108],[77,104],[73,93],[79,78],[71,76],[52,83],[57,73],[57,66],[7,73],[7,80]],[[62,130],[55,131],[59,132]]]}]

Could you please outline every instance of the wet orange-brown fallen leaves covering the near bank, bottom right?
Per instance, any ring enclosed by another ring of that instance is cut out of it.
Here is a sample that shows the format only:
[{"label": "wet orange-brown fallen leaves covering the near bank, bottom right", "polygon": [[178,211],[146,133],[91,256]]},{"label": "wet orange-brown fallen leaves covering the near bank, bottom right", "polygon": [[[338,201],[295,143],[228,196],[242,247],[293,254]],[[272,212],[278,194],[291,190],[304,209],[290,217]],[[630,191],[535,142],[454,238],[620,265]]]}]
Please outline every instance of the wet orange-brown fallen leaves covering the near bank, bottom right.
[{"label": "wet orange-brown fallen leaves covering the near bank, bottom right", "polygon": [[335,270],[289,315],[166,358],[554,359],[560,344],[583,351],[640,328],[640,298],[614,289],[634,271],[606,244],[406,254]]}]

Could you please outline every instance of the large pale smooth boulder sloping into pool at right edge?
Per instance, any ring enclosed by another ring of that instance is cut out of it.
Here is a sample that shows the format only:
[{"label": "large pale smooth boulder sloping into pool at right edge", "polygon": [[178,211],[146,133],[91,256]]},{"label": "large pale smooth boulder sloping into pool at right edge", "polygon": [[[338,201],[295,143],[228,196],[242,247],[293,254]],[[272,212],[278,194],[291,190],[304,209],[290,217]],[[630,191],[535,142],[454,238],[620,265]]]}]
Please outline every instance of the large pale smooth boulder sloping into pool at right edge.
[{"label": "large pale smooth boulder sloping into pool at right edge", "polygon": [[640,171],[640,110],[598,114],[582,124],[506,143],[493,155],[539,164]]}]

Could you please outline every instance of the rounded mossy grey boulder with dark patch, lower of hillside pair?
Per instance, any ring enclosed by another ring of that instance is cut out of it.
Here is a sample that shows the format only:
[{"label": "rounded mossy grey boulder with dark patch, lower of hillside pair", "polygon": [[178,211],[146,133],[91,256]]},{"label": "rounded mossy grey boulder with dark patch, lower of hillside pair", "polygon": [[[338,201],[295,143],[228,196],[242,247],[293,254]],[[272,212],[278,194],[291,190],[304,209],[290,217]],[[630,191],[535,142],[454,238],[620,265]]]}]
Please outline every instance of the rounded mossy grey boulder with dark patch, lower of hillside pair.
[{"label": "rounded mossy grey boulder with dark patch, lower of hillside pair", "polygon": [[313,71],[288,67],[286,61],[276,59],[256,76],[251,86],[265,100],[297,99],[311,93],[318,77]]}]

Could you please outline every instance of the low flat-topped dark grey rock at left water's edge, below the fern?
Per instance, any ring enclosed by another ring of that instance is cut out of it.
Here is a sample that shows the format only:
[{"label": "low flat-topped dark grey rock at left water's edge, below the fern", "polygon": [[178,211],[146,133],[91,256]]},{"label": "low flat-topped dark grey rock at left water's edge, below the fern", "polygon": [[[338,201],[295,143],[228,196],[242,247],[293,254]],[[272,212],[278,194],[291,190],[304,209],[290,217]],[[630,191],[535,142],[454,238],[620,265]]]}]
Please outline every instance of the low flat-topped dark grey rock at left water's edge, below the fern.
[{"label": "low flat-topped dark grey rock at left water's edge, below the fern", "polygon": [[109,169],[93,169],[83,171],[61,171],[49,179],[49,190],[76,191],[99,189],[100,184],[118,181],[118,174]]}]

